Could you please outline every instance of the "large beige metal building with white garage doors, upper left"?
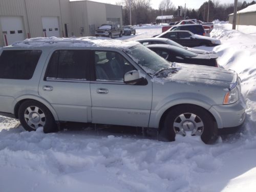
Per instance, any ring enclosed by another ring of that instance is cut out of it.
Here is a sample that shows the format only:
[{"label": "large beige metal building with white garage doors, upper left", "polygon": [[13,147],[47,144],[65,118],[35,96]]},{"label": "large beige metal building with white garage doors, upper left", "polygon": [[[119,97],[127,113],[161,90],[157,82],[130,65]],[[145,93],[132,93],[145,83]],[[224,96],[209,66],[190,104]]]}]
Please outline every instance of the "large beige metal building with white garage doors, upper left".
[{"label": "large beige metal building with white garage doors, upper left", "polygon": [[94,35],[101,24],[122,25],[122,7],[93,1],[0,0],[0,47],[30,37]]}]

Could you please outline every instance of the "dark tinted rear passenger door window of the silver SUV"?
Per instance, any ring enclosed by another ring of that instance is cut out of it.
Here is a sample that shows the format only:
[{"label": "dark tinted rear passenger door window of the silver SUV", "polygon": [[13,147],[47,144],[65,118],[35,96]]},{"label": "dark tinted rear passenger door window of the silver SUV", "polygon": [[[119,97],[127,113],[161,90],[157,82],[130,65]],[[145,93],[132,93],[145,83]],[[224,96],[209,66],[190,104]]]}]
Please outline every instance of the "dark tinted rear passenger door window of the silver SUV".
[{"label": "dark tinted rear passenger door window of the silver SUV", "polygon": [[47,79],[86,80],[88,51],[57,50],[52,54]]}]

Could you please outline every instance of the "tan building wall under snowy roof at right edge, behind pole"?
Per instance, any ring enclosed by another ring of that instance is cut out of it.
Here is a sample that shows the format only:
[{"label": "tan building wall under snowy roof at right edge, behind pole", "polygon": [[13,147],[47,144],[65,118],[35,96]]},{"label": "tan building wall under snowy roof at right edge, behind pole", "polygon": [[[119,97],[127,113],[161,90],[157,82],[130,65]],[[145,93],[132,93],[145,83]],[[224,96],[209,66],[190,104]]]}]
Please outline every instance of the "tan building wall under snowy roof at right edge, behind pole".
[{"label": "tan building wall under snowy roof at right edge, behind pole", "polygon": [[[229,15],[229,23],[233,23],[233,15]],[[237,25],[254,25],[256,26],[256,12],[237,14]]]}]

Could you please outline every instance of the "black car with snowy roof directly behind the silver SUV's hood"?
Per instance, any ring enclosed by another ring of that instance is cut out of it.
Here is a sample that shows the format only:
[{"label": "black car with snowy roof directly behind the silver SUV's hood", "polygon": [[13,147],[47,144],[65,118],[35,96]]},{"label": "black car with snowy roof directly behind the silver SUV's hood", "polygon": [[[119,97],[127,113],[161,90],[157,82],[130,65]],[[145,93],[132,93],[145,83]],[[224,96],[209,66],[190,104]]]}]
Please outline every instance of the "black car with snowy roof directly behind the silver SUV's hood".
[{"label": "black car with snowy roof directly behind the silver SUV's hood", "polygon": [[146,46],[159,56],[170,62],[181,62],[210,67],[219,67],[217,54],[196,54],[194,52],[170,45],[149,45]]}]

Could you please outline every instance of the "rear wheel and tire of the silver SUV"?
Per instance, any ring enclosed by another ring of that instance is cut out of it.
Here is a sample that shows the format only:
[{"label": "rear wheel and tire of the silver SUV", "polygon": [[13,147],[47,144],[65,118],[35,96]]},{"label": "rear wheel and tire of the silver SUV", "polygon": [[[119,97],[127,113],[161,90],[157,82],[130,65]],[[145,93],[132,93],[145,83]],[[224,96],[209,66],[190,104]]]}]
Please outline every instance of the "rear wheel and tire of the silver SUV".
[{"label": "rear wheel and tire of the silver SUV", "polygon": [[57,125],[50,110],[42,103],[28,100],[18,110],[18,118],[26,131],[36,131],[44,127],[44,133],[57,132]]}]

